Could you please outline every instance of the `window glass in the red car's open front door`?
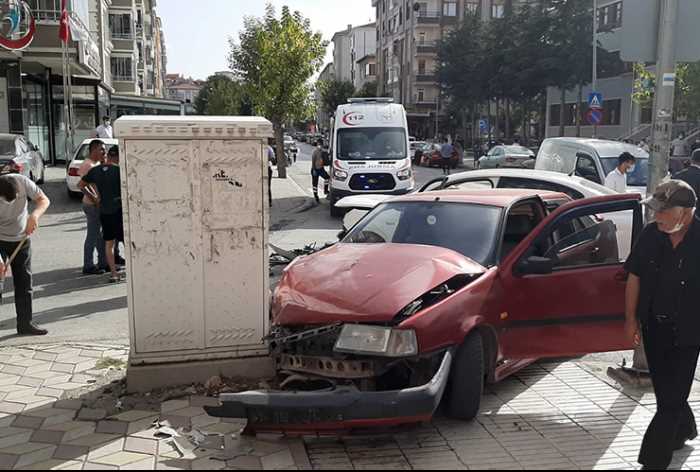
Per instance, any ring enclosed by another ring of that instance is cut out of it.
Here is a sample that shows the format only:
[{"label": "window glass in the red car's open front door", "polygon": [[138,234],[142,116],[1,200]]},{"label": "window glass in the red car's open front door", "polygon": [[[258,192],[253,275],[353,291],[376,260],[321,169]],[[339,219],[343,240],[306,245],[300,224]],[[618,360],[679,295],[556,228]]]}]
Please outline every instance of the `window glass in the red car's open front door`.
[{"label": "window glass in the red car's open front door", "polygon": [[621,264],[620,235],[615,222],[606,218],[609,215],[563,217],[547,235],[540,254],[554,261],[555,270]]}]

